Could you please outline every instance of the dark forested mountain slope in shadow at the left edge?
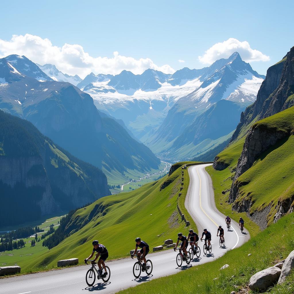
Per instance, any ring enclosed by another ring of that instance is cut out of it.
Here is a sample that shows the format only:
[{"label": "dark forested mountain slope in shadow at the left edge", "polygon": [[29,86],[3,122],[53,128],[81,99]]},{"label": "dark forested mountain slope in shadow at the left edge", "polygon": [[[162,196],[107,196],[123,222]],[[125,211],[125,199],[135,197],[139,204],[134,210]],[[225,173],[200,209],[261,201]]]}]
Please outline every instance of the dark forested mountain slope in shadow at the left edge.
[{"label": "dark forested mountain slope in shadow at the left edge", "polygon": [[110,194],[103,172],[0,110],[1,224],[67,212]]}]

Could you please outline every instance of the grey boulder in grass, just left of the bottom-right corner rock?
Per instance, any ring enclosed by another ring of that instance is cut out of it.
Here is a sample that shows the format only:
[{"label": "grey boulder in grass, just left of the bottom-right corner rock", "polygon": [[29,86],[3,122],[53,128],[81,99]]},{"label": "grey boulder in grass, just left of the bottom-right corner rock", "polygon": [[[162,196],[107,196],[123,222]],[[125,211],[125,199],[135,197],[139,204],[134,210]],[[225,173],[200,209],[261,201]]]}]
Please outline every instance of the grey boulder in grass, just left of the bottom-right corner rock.
[{"label": "grey boulder in grass, just left of the bottom-right corner rock", "polygon": [[261,270],[249,280],[249,288],[253,291],[266,291],[269,287],[278,282],[281,269],[275,266]]}]

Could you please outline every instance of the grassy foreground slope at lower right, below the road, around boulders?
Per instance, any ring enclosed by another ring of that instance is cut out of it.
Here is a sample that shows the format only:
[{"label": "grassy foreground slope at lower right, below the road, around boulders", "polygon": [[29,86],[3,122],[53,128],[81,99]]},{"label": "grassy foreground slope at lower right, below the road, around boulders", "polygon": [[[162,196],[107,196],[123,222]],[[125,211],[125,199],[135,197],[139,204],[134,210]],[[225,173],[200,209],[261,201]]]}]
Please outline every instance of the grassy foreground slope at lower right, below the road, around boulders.
[{"label": "grassy foreground slope at lower right, below the road, around boulders", "polygon": [[[293,250],[293,225],[294,214],[291,213],[258,233],[241,247],[228,251],[213,262],[193,266],[175,275],[148,283],[141,283],[119,293],[165,294],[175,293],[175,288],[187,294],[228,294],[231,291],[247,293],[247,285],[253,274],[285,259]],[[229,267],[220,270],[225,264]],[[273,287],[269,293],[288,294],[293,292],[293,287],[294,273],[285,284]]]}]

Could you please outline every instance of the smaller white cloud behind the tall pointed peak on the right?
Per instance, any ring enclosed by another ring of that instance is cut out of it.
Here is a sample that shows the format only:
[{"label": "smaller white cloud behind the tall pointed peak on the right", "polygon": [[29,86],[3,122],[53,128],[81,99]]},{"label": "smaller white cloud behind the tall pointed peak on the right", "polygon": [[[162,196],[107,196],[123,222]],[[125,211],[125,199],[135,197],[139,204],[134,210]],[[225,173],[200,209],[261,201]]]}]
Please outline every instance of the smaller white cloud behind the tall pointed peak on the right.
[{"label": "smaller white cloud behind the tall pointed peak on the right", "polygon": [[203,64],[212,64],[220,58],[228,58],[235,51],[246,62],[270,60],[269,56],[256,49],[252,49],[247,41],[240,42],[234,38],[214,44],[202,56],[198,56],[198,59]]}]

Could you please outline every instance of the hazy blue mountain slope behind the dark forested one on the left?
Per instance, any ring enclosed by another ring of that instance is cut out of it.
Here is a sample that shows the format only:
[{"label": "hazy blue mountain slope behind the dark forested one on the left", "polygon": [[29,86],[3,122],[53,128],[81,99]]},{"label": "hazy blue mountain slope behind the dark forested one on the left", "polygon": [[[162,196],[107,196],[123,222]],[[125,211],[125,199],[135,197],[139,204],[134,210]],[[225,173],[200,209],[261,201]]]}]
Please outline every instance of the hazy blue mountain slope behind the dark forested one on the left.
[{"label": "hazy blue mountain slope behind the dark forested one on the left", "polygon": [[158,167],[149,148],[118,122],[101,117],[91,96],[70,83],[39,82],[15,72],[6,59],[0,59],[0,79],[0,108],[31,121],[74,156],[121,175]]}]

